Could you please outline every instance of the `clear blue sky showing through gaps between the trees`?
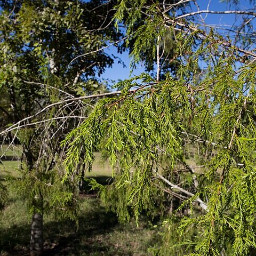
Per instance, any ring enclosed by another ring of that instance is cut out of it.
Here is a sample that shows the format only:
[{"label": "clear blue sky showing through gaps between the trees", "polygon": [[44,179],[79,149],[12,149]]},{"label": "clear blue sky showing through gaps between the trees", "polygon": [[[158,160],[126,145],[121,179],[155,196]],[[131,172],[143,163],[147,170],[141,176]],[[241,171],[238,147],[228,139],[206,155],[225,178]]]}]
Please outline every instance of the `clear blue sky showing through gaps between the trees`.
[{"label": "clear blue sky showing through gaps between the trees", "polygon": [[[209,3],[209,0],[198,0],[200,10],[206,10],[208,3]],[[239,2],[239,7],[238,7],[239,10],[245,10],[250,7],[255,7],[255,6],[251,5],[248,0],[247,1],[241,0]],[[227,11],[227,10],[235,10],[235,9],[237,9],[237,7],[230,6],[229,4],[224,3],[223,1],[219,1],[219,0],[211,0],[210,1],[209,10],[212,10],[212,11]],[[196,9],[195,9],[195,11],[196,11]],[[207,15],[202,14],[202,17],[206,17],[205,22],[209,25],[222,24],[222,25],[227,25],[227,26],[230,25],[231,26],[234,24],[235,19],[236,19],[234,14],[227,14],[227,15],[225,15],[225,14],[207,14]],[[239,20],[237,20],[237,22],[239,22]],[[123,80],[125,78],[129,78],[129,76],[130,76],[129,54],[127,52],[124,52],[123,54],[118,54],[115,47],[109,47],[109,49],[106,49],[105,51],[108,52],[109,54],[114,54],[114,55],[117,55],[119,58],[121,58],[122,61],[126,64],[126,68],[124,68],[121,63],[118,63],[118,60],[116,60],[113,67],[108,68],[106,70],[105,74],[103,74],[101,76],[101,78],[114,80],[114,81],[118,81],[118,79]],[[144,71],[143,66],[138,65],[137,69],[134,70],[133,75],[139,75],[143,71]]]}]

